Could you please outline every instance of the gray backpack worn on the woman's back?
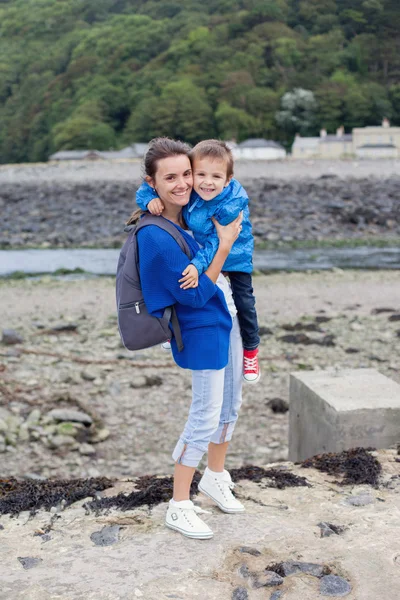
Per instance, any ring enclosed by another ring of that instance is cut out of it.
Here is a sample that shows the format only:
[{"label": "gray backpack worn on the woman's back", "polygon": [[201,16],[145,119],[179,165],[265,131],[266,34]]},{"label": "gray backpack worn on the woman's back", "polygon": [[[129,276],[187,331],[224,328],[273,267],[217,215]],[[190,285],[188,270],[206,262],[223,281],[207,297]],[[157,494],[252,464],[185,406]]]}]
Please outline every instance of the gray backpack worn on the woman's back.
[{"label": "gray backpack worn on the woman's back", "polygon": [[152,317],[143,299],[139,272],[139,249],[136,239],[142,227],[157,225],[175,239],[189,260],[192,258],[186,240],[167,219],[145,213],[136,225],[125,228],[128,239],[122,247],[117,267],[117,312],[118,328],[122,342],[128,350],[143,350],[162,344],[171,338],[171,322],[179,352],[183,350],[182,335],[175,306],[168,306],[161,318]]}]

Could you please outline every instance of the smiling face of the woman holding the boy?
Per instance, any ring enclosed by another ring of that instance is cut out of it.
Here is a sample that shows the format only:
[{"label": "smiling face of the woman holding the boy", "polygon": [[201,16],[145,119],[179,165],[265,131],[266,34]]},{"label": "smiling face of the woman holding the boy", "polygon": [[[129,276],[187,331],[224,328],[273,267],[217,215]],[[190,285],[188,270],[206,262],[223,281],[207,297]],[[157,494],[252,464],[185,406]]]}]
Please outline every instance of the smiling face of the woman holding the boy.
[{"label": "smiling face of the woman holding the boy", "polygon": [[159,160],[154,179],[146,177],[146,181],[155,188],[158,197],[166,207],[167,205],[185,206],[189,202],[193,187],[189,157],[178,154]]}]

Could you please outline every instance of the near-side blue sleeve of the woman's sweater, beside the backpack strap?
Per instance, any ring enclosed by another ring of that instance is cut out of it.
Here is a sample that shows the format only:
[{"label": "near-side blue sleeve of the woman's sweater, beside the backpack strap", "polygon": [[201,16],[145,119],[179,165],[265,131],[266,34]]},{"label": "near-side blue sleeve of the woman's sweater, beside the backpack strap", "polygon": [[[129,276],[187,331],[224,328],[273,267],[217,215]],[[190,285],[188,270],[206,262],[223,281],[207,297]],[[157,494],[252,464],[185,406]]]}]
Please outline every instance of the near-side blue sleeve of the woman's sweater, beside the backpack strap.
[{"label": "near-side blue sleeve of the woman's sweater, beside the backpack strap", "polygon": [[201,308],[214,296],[218,288],[206,274],[199,277],[197,288],[180,287],[189,259],[168,232],[148,225],[137,235],[140,279],[150,313],[176,302]]}]

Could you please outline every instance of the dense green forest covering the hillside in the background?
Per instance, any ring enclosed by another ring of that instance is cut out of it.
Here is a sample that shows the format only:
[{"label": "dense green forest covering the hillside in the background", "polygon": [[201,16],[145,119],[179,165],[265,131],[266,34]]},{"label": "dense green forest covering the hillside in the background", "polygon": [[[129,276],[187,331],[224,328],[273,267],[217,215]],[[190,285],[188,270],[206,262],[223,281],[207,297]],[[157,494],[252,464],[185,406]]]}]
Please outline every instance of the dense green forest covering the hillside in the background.
[{"label": "dense green forest covering the hillside in the background", "polygon": [[400,125],[399,0],[0,0],[0,162]]}]

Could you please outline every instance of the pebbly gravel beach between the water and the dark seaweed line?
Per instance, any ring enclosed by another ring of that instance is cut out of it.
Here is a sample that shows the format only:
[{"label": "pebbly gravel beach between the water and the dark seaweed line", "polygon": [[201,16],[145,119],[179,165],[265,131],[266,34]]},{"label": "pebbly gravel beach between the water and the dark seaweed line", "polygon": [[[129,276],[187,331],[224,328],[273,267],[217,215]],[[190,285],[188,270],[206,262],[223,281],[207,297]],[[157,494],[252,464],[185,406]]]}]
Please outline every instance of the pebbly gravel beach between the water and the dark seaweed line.
[{"label": "pebbly gravel beach between the water and the dark seaweed line", "polygon": [[[255,291],[260,324],[271,333],[262,336],[262,380],[244,388],[228,467],[287,458],[288,413],[275,414],[268,403],[288,401],[291,371],[375,367],[400,382],[400,272],[280,273],[256,277]],[[124,350],[114,306],[112,278],[0,282],[1,328],[24,338],[0,345],[0,437],[2,419],[11,414],[17,423],[3,452],[0,444],[1,476],[171,472],[170,454],[190,403],[190,372],[161,348]],[[377,308],[391,312],[373,314]],[[327,320],[318,324],[321,317]],[[320,331],[284,327],[297,322]],[[77,328],[53,333],[59,324]],[[298,334],[335,345],[279,339]],[[26,424],[33,408],[41,410],[36,430]],[[45,418],[54,408],[91,414],[107,439],[78,436],[73,445],[56,439]]]}]

